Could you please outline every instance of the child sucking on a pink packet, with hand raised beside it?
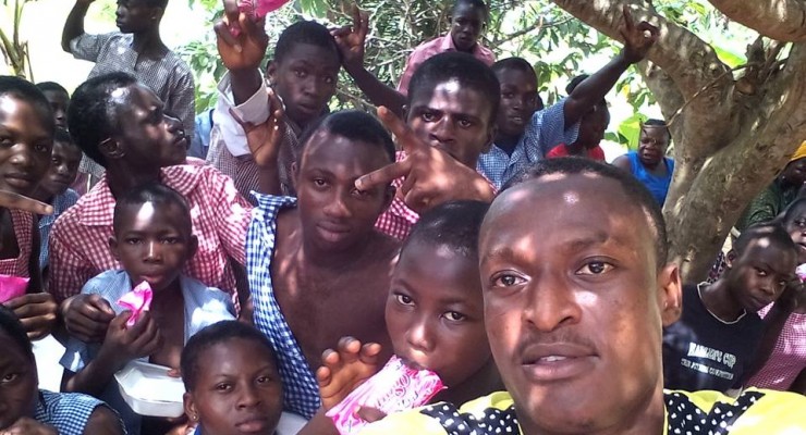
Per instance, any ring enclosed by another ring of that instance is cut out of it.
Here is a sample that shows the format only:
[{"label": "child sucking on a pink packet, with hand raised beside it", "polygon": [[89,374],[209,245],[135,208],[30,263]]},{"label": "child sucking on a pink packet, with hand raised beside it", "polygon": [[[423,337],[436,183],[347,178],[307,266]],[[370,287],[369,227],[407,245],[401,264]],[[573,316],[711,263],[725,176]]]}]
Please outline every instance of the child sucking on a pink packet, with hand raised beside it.
[{"label": "child sucking on a pink packet, with hand raised beside it", "polygon": [[[478,276],[476,240],[487,208],[480,201],[452,201],[424,213],[392,275],[386,321],[394,355],[440,376],[447,389],[431,402],[463,403],[503,388],[487,343]],[[345,338],[338,351],[322,355],[317,380],[323,410],[380,369],[379,347]],[[309,428],[325,419],[320,412]],[[310,433],[328,432],[323,425],[316,428]]]}]

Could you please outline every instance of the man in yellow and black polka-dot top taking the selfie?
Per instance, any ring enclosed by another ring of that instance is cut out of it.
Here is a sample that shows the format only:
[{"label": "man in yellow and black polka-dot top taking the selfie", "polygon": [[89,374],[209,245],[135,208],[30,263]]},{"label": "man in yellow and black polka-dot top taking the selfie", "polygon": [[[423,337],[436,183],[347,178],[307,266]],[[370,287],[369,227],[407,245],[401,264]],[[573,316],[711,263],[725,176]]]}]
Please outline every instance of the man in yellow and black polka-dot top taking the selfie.
[{"label": "man in yellow and black polka-dot top taking the selfie", "polygon": [[479,235],[485,324],[509,393],[389,415],[362,434],[806,431],[803,396],[664,393],[661,327],[681,302],[667,249],[659,206],[628,174],[538,162],[496,198]]}]

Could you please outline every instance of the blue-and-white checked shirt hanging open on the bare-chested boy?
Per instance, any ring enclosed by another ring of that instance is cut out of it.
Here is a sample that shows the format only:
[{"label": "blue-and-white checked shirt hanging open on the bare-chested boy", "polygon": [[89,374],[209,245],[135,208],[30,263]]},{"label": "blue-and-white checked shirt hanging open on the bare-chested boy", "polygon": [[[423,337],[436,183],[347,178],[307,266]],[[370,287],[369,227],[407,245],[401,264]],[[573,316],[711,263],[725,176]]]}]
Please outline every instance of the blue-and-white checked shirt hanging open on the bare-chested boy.
[{"label": "blue-and-white checked shirt hanging open on the bare-chested boy", "polygon": [[319,385],[285,322],[271,283],[277,215],[284,208],[296,207],[296,199],[255,192],[253,195],[257,198],[257,208],[252,211],[252,223],[246,234],[246,272],[255,308],[255,326],[274,347],[283,381],[283,408],[310,419],[321,406]]}]

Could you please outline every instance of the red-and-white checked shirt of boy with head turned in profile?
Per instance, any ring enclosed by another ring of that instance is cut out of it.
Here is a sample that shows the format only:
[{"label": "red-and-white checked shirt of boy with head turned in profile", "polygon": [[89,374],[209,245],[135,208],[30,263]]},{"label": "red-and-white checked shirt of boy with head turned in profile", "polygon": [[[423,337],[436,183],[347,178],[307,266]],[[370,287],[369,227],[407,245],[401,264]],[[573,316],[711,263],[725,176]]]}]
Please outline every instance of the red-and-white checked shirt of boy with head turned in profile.
[{"label": "red-and-white checked shirt of boy with head turned in profile", "polygon": [[[235,276],[229,259],[245,263],[252,206],[230,177],[211,166],[163,167],[160,179],[187,200],[193,234],[198,238],[198,250],[182,272],[234,294]],[[95,275],[121,268],[109,249],[114,203],[105,176],[53,224],[49,289],[57,300],[77,295]]]}]

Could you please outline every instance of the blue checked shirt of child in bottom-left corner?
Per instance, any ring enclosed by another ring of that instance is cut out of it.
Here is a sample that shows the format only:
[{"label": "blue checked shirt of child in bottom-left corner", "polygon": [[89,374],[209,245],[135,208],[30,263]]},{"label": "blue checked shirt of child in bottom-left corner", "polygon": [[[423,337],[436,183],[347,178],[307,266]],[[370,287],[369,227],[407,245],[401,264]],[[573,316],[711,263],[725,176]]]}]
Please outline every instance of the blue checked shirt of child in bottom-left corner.
[{"label": "blue checked shirt of child in bottom-left corner", "polygon": [[93,411],[106,406],[93,396],[40,389],[34,420],[56,427],[59,435],[83,435]]}]

